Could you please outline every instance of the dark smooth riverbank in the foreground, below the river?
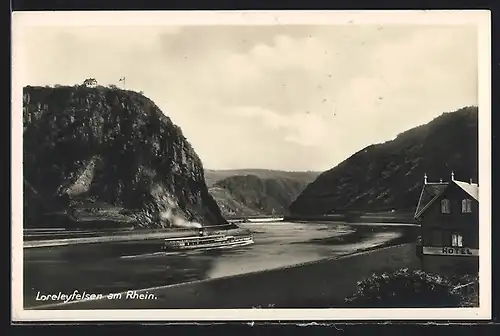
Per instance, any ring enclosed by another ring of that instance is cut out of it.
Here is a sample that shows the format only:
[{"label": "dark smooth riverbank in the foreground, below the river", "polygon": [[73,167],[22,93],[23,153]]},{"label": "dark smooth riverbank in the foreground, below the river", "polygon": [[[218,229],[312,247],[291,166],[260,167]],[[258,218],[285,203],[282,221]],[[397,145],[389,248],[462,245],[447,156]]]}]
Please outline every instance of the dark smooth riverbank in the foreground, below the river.
[{"label": "dark smooth riverbank in the foreground, below the river", "polygon": [[373,272],[419,266],[415,244],[406,243],[243,275],[125,291],[113,299],[36,309],[341,308],[356,290],[357,281]]}]

